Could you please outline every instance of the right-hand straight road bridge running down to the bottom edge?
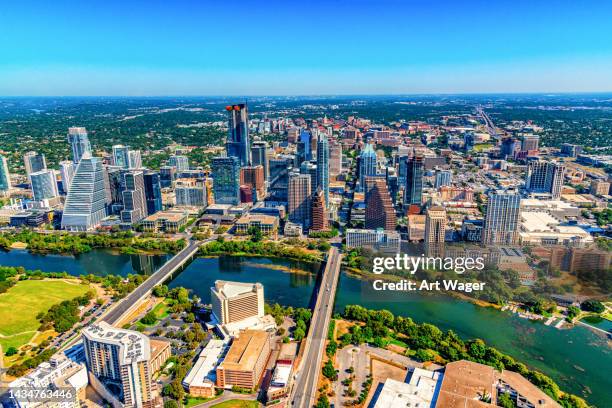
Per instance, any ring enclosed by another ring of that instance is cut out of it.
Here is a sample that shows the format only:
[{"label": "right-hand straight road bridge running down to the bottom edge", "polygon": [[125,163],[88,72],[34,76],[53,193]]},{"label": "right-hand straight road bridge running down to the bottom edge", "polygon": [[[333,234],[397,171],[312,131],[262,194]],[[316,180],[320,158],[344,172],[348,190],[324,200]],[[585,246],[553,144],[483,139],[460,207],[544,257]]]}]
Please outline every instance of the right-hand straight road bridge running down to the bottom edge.
[{"label": "right-hand straight road bridge running down to the bottom edge", "polygon": [[292,390],[291,406],[293,407],[310,408],[314,404],[327,331],[334,308],[338,277],[340,276],[341,259],[342,255],[338,252],[338,248],[331,247],[321,278],[308,336],[304,340],[305,350],[300,363],[301,368]]}]

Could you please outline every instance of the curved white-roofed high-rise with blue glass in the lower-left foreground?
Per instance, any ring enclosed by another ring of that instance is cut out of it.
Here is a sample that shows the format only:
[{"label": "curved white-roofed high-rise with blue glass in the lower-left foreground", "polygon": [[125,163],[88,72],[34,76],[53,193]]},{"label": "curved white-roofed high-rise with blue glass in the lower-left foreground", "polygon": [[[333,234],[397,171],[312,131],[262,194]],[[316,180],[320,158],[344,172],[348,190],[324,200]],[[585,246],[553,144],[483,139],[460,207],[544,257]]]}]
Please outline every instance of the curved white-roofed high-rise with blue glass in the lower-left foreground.
[{"label": "curved white-roofed high-rise with blue glass in the lower-left foreground", "polygon": [[100,322],[85,327],[82,338],[90,384],[100,395],[116,399],[112,406],[154,406],[146,335]]}]

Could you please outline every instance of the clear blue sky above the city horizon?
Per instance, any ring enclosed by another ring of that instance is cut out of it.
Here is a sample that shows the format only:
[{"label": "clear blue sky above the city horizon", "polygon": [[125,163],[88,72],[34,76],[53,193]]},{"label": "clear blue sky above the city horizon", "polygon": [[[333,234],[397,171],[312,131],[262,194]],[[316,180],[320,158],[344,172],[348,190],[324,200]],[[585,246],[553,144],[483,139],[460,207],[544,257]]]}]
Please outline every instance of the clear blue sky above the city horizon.
[{"label": "clear blue sky above the city horizon", "polygon": [[0,95],[612,91],[612,2],[14,1]]}]

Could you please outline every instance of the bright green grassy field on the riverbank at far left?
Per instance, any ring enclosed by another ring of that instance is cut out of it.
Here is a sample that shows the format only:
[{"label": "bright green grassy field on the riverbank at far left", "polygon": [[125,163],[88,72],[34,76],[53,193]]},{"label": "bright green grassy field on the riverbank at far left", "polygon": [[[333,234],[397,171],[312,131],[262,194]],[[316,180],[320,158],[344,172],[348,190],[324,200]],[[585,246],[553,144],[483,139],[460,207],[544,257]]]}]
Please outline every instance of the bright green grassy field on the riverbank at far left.
[{"label": "bright green grassy field on the riverbank at far left", "polygon": [[76,281],[19,281],[0,294],[0,344],[4,350],[26,344],[36,334],[40,323],[36,316],[63,300],[84,295],[90,289]]}]

